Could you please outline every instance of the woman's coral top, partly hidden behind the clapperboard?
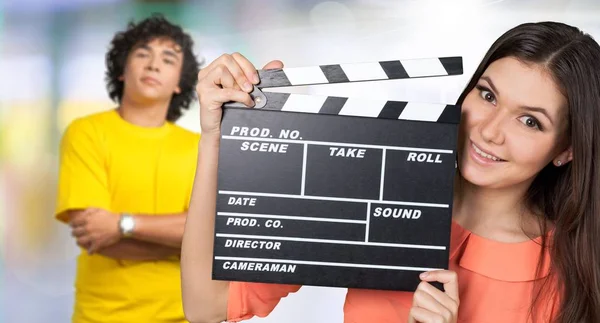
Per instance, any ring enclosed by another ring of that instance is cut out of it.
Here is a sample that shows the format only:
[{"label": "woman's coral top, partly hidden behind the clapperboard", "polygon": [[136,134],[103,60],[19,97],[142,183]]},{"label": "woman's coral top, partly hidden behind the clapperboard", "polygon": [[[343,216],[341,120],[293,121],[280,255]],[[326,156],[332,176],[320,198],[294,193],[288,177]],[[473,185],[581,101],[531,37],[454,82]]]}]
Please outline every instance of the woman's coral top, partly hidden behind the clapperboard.
[{"label": "woman's coral top, partly hidden behind the clapperboard", "polygon": [[[458,322],[531,322],[530,308],[535,281],[547,278],[549,266],[536,275],[541,238],[521,243],[501,243],[478,236],[452,223],[450,269],[458,274],[460,306]],[[545,252],[545,256],[548,253]],[[548,259],[548,258],[546,258]],[[545,262],[548,263],[547,261]],[[554,281],[550,291],[555,290]],[[282,297],[299,285],[231,282],[227,319],[238,322],[267,316]],[[407,322],[412,292],[348,289],[344,323]],[[559,306],[554,292],[533,310],[537,322],[550,322]]]}]

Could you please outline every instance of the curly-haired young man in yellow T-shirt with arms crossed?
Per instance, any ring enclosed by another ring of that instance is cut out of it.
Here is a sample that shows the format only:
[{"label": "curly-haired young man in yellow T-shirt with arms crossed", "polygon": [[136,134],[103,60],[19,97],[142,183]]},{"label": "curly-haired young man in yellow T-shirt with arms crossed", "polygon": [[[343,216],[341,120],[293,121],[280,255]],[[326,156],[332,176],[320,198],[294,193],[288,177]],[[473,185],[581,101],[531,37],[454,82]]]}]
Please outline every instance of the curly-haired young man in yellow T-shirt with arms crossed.
[{"label": "curly-haired young man in yellow T-shirt with arms crossed", "polygon": [[118,107],[62,138],[56,218],[83,249],[73,322],[185,322],[179,254],[200,136],[173,122],[194,98],[192,47],[160,16],[130,23],[106,55]]}]

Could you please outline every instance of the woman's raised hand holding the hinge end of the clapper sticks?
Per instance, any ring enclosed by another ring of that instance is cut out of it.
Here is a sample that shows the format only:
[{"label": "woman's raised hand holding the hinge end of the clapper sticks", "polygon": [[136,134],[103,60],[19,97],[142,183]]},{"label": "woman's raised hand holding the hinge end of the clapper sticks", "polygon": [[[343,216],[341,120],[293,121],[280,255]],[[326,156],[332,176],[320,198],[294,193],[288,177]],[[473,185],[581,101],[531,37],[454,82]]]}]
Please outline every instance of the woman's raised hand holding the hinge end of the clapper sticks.
[{"label": "woman's raised hand holding the hinge end of the clapper sticks", "polygon": [[[280,61],[271,61],[263,69],[282,67]],[[221,55],[200,70],[196,92],[200,101],[202,134],[220,133],[223,103],[235,101],[253,107],[249,93],[258,82],[256,68],[239,53]]]}]

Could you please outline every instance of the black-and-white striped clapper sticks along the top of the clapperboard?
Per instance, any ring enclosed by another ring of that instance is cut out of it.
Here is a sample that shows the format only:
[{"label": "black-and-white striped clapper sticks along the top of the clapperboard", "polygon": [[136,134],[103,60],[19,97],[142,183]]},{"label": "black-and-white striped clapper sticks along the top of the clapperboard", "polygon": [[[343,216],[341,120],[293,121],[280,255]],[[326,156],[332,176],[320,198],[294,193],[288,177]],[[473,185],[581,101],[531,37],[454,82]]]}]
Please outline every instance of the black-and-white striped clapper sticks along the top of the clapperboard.
[{"label": "black-and-white striped clapper sticks along the top of the clapperboard", "polygon": [[[431,102],[388,101],[263,92],[262,89],[364,81],[384,81],[422,77],[447,77],[463,74],[460,56],[401,59],[350,64],[331,64],[258,71],[260,82],[250,93],[254,109],[328,115],[401,119],[458,124],[460,109],[456,105]],[[228,102],[224,108],[244,108]],[[365,108],[368,107],[368,108]]]}]

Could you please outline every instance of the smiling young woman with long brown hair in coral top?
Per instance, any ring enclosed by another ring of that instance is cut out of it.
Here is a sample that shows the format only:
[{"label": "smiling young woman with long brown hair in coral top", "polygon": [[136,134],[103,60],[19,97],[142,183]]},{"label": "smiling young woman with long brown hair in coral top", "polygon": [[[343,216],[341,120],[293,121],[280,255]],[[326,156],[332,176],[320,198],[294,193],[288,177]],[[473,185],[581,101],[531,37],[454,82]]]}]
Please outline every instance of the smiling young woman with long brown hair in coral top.
[{"label": "smiling young woman with long brown hair in coral top", "polygon": [[[194,323],[266,316],[300,286],[211,280],[221,105],[252,106],[256,70],[223,55],[198,80],[184,310]],[[600,46],[565,24],[519,25],[458,104],[450,270],[424,273],[414,293],[349,289],[345,322],[600,322]]]}]

